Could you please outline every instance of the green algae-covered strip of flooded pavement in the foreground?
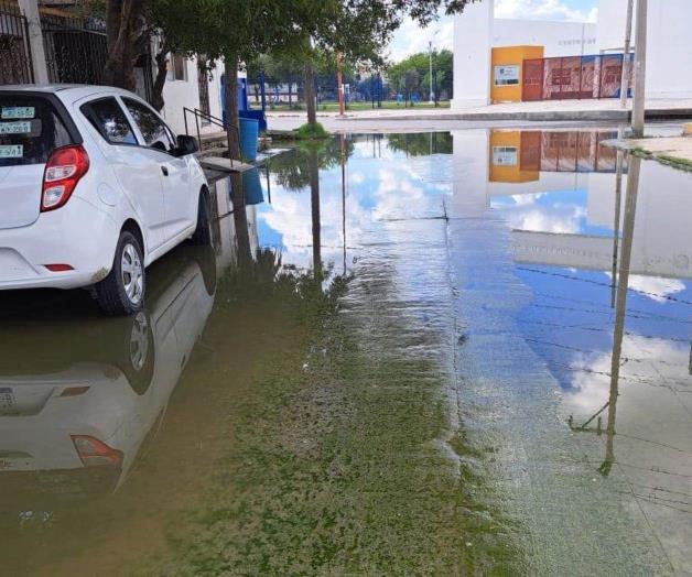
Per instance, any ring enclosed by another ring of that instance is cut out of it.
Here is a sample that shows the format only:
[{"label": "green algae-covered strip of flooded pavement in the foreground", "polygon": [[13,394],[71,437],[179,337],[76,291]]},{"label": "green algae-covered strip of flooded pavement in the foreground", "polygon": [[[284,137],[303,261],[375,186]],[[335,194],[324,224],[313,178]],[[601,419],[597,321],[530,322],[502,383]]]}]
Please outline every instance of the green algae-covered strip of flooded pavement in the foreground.
[{"label": "green algae-covered strip of flooded pavement in the foreground", "polygon": [[[323,294],[299,283],[294,296],[275,295],[291,302],[304,338],[277,348],[249,387],[255,394],[236,401],[234,440],[206,499],[188,522],[171,527],[167,554],[151,573],[516,569],[510,526],[487,504],[496,500],[486,499],[493,490],[484,451],[463,433],[451,444],[467,462],[440,449],[448,426],[440,367],[394,355],[396,347],[379,350],[381,339],[363,330],[367,306],[337,314],[347,284],[337,277]],[[406,326],[392,323],[396,339]]]}]

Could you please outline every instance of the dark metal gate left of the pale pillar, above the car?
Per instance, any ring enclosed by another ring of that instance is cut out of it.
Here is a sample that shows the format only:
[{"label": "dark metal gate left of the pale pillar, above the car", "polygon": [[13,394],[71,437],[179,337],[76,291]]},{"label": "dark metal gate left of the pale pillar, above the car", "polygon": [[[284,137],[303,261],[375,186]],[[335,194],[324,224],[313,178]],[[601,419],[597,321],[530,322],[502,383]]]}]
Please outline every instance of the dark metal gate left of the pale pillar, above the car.
[{"label": "dark metal gate left of the pale pillar, above the car", "polygon": [[33,81],[26,18],[17,4],[0,2],[0,85]]}]

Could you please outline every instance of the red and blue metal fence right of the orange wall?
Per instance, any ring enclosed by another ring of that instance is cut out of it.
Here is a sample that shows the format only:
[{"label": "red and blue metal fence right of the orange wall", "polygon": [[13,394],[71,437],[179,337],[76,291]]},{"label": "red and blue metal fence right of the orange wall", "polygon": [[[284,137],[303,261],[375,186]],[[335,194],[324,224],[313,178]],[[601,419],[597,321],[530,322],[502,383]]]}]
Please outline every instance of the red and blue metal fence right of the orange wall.
[{"label": "red and blue metal fence right of the orange wall", "polygon": [[[623,61],[623,54],[526,59],[522,100],[618,98]],[[631,91],[631,54],[627,66]]]}]

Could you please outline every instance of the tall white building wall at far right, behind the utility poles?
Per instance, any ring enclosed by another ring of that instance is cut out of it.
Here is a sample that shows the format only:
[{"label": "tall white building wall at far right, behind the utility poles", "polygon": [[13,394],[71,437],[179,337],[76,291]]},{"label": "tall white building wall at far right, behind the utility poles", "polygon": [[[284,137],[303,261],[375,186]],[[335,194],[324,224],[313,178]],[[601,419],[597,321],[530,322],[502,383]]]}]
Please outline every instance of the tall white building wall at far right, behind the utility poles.
[{"label": "tall white building wall at far right, behind the utility poles", "polygon": [[[601,0],[597,32],[599,50],[623,48],[626,7],[627,0]],[[691,23],[692,0],[649,0],[647,97],[692,98]]]}]

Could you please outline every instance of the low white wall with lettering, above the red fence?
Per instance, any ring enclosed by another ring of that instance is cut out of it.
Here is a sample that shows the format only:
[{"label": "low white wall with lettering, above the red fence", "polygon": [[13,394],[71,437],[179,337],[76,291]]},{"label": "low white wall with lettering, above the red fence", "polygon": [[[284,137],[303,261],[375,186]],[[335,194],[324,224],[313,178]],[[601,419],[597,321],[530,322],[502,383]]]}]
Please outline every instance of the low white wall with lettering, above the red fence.
[{"label": "low white wall with lettering, above the red fence", "polygon": [[544,46],[545,57],[597,54],[596,39],[596,24],[584,22],[496,19],[493,26],[494,46]]}]

